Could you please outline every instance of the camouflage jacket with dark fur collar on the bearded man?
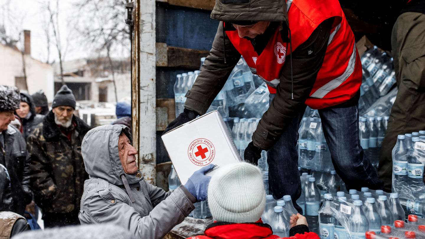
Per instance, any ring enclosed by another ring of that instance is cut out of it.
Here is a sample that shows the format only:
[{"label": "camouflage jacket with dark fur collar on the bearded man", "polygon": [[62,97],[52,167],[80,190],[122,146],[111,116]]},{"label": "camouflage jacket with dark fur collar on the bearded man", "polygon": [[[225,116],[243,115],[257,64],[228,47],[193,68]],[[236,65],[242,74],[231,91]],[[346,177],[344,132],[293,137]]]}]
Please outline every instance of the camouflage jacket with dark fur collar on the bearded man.
[{"label": "camouflage jacket with dark fur collar on the bearded man", "polygon": [[81,156],[81,142],[89,126],[76,116],[71,141],[62,134],[50,111],[27,140],[31,163],[31,189],[35,202],[47,213],[79,210],[88,174]]}]

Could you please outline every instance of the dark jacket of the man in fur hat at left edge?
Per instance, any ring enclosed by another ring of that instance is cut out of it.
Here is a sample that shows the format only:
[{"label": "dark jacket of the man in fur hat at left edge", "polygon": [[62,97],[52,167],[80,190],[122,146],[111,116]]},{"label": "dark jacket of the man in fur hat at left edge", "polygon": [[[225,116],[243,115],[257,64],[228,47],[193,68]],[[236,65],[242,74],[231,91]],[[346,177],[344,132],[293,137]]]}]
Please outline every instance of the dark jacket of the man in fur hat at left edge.
[{"label": "dark jacket of the man in fur hat at left edge", "polygon": [[29,158],[25,139],[17,128],[12,125],[9,125],[2,134],[4,135],[5,149],[0,152],[0,164],[6,167],[10,176],[13,199],[10,211],[23,215],[25,206],[32,199],[32,191],[29,184]]}]

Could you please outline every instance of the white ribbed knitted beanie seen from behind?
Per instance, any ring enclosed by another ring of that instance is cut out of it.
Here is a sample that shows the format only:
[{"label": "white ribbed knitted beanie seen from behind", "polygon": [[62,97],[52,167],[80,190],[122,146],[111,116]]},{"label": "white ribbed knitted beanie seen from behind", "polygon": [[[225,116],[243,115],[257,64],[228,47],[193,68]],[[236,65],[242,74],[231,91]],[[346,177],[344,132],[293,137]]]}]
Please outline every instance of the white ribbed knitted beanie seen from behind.
[{"label": "white ribbed knitted beanie seen from behind", "polygon": [[246,162],[219,169],[208,186],[208,205],[217,222],[257,222],[266,205],[261,171]]}]

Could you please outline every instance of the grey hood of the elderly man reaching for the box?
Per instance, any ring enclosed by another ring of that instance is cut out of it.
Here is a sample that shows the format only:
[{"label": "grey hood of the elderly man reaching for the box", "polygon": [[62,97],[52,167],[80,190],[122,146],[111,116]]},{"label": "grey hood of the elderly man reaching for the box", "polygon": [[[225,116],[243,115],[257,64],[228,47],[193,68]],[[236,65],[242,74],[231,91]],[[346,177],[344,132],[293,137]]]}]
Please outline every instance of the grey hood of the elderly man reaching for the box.
[{"label": "grey hood of the elderly man reaching for the box", "polygon": [[[125,125],[102,125],[87,132],[81,144],[85,171],[91,178],[100,178],[113,185],[124,185],[120,176],[125,175],[129,184],[143,179],[140,171],[128,175],[122,169],[118,154],[119,134],[124,132],[132,141],[130,130]],[[139,175],[137,177],[136,175]]]}]

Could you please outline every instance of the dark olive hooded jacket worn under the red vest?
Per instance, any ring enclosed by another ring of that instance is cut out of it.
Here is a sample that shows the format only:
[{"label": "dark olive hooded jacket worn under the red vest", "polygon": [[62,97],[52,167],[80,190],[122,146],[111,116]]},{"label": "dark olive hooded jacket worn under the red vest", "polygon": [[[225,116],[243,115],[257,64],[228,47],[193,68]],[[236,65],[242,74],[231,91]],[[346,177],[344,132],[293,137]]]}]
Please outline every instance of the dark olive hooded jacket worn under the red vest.
[{"label": "dark olive hooded jacket worn under the red vest", "polygon": [[[282,23],[281,35],[287,38],[288,15],[285,0],[250,0],[249,3],[225,3],[216,0],[211,18],[219,21],[276,21]],[[274,24],[271,24],[273,27]],[[321,23],[311,36],[296,49],[292,54],[288,52],[286,59],[292,55],[292,67],[287,61],[280,72],[280,84],[277,86],[277,94],[269,109],[258,123],[257,129],[252,136],[253,144],[263,150],[268,150],[274,145],[286,129],[289,122],[298,115],[305,107],[305,100],[312,91],[317,73],[322,66],[326,47],[331,31],[331,22]],[[185,108],[193,110],[198,114],[205,114],[210,104],[223,88],[227,78],[241,57],[227,37],[224,31],[233,31],[231,24],[218,25],[210,55],[205,59],[201,72],[190,91],[187,92]],[[256,37],[257,38],[257,37]],[[263,38],[263,36],[258,36]],[[289,39],[287,39],[289,41]],[[268,39],[262,39],[268,42]],[[260,43],[264,45],[264,43]],[[255,47],[255,46],[254,46]],[[315,54],[308,55],[308,49],[314,49]],[[224,63],[224,50],[226,63]],[[257,47],[255,47],[257,51]],[[260,48],[260,51],[261,48]],[[288,49],[289,51],[289,49]],[[258,52],[260,54],[260,52]],[[293,75],[293,89],[291,73]],[[294,99],[291,99],[291,92]],[[353,97],[343,105],[333,107],[348,107],[356,105],[358,97]]]}]

